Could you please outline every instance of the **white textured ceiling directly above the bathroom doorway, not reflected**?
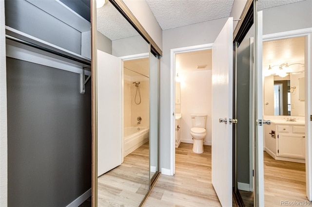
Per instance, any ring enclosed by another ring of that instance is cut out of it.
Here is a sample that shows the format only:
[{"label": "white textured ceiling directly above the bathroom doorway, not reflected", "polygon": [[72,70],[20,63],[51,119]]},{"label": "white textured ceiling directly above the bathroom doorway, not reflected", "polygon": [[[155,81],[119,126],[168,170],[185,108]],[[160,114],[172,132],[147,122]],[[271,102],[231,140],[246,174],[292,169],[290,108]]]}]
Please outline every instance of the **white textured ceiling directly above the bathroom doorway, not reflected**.
[{"label": "white textured ceiling directly above the bathroom doorway, not reflected", "polygon": [[162,30],[229,17],[234,0],[146,0]]}]

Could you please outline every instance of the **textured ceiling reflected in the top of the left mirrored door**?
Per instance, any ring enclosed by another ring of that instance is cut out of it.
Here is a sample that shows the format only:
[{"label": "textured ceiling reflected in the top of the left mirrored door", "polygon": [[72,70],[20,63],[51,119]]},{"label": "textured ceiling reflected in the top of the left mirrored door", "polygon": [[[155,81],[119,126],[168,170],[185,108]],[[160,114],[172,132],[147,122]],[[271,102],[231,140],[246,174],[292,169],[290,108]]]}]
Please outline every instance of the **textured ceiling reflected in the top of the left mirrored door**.
[{"label": "textured ceiling reflected in the top of the left mirrored door", "polygon": [[109,1],[97,9],[97,30],[111,40],[138,35],[137,31]]}]

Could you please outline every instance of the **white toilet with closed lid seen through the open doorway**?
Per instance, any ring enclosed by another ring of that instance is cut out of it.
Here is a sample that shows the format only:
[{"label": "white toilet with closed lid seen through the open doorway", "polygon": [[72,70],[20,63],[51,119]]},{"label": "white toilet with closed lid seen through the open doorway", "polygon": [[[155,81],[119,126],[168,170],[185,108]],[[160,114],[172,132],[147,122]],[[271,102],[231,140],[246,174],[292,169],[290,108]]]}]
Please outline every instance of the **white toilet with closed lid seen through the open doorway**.
[{"label": "white toilet with closed lid seen through the open doorway", "polygon": [[193,137],[193,152],[200,154],[204,152],[204,138],[206,137],[206,114],[192,114],[191,135]]}]

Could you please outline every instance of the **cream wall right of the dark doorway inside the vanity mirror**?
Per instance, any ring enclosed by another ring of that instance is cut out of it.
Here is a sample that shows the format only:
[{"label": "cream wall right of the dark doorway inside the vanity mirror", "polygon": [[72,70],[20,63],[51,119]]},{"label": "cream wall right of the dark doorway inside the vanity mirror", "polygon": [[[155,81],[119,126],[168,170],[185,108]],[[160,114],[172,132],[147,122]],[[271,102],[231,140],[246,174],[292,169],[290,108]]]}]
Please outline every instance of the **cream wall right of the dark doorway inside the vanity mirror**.
[{"label": "cream wall right of the dark doorway inside the vanity mirror", "polygon": [[[305,73],[297,75],[291,74],[291,87],[295,86],[293,93],[291,93],[291,116],[305,116],[305,101],[299,100],[299,78],[303,78]],[[303,88],[304,89],[304,88]]]}]

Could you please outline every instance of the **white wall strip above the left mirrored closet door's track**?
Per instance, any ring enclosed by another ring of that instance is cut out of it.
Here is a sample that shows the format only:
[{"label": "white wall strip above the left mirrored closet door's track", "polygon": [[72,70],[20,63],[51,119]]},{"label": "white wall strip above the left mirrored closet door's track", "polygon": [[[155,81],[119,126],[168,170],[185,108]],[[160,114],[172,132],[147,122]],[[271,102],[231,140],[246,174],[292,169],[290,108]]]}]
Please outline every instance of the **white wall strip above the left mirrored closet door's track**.
[{"label": "white wall strip above the left mirrored closet door's track", "polygon": [[122,0],[162,50],[162,30],[145,0]]}]

